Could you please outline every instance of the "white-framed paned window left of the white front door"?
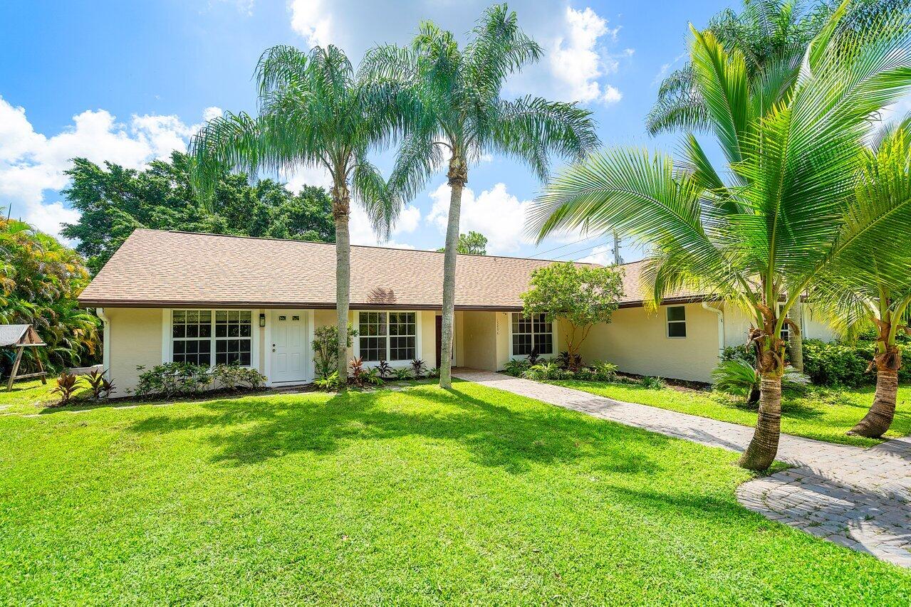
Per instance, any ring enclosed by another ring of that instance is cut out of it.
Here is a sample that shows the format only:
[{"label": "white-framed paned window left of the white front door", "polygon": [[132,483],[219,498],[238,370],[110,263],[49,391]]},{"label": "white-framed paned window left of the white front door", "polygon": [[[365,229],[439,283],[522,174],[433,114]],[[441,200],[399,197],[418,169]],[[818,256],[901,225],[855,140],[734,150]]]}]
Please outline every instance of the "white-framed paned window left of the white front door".
[{"label": "white-framed paned window left of the white front door", "polygon": [[249,367],[251,336],[250,310],[176,309],[171,312],[171,360],[174,362]]}]

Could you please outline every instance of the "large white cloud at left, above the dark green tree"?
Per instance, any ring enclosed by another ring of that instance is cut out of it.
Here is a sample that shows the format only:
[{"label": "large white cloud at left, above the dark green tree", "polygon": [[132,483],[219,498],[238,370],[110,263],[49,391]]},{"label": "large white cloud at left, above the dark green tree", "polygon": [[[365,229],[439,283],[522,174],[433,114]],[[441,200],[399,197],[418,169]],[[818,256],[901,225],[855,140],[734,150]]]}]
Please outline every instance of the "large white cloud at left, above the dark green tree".
[{"label": "large white cloud at left, above the dark green tree", "polygon": [[[210,107],[204,117],[220,112]],[[78,213],[59,201],[47,202],[45,194],[67,185],[64,172],[72,158],[142,168],[172,150],[186,149],[199,127],[187,126],[177,116],[154,115],[132,116],[127,125],[98,109],[73,116],[73,125],[47,137],[35,132],[25,108],[0,97],[0,199],[13,205],[14,217],[58,236],[60,224],[77,220]]]}]

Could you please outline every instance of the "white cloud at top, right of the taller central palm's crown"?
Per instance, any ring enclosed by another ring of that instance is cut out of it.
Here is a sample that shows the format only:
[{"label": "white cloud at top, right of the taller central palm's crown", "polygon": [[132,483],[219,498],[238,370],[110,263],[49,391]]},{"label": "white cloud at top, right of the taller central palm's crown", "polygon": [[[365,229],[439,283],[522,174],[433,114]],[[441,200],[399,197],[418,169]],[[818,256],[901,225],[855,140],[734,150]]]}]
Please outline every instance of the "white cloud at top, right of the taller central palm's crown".
[{"label": "white cloud at top, right of the taller central palm's crown", "polygon": [[[583,103],[616,103],[619,90],[600,81],[613,74],[619,61],[611,56],[599,40],[604,37],[617,41],[619,26],[608,27],[608,20],[590,7],[578,11],[567,6],[564,13],[564,34],[554,40],[548,53],[550,73],[560,83],[565,96]],[[620,56],[632,56],[633,49],[624,49]]]}]

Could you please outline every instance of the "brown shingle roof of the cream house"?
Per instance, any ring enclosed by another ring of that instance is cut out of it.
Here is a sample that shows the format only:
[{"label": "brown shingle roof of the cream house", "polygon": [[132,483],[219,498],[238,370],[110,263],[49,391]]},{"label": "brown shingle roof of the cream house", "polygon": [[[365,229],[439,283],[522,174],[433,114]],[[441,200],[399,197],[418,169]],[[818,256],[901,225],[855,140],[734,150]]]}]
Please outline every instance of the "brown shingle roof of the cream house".
[{"label": "brown shingle roof of the cream house", "polygon": [[[520,309],[546,259],[458,256],[455,306]],[[624,266],[627,303],[640,300],[641,262]],[[443,254],[351,248],[351,307],[439,309]],[[334,308],[333,244],[138,229],[79,296],[86,307]]]}]

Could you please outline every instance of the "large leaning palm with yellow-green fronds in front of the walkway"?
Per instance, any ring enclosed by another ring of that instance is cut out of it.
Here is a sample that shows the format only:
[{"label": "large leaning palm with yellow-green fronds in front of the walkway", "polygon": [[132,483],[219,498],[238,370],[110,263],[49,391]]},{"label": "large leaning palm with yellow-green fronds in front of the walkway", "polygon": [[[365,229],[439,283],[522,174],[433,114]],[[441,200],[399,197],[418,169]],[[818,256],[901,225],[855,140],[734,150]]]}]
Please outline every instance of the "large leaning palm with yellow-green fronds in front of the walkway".
[{"label": "large leaning palm with yellow-green fronds in front of the walkway", "polygon": [[558,228],[618,228],[649,245],[644,279],[652,306],[687,286],[750,312],[761,397],[740,464],[753,470],[768,468],[778,450],[787,313],[850,244],[838,238],[845,207],[857,223],[856,246],[870,248],[889,233],[878,209],[853,192],[867,117],[911,86],[911,13],[839,28],[846,5],[807,47],[780,100],[785,70],[750,78],[740,51],[692,29],[694,82],[727,179],[692,134],[677,165],[661,153],[612,149],[555,179],[530,217],[538,238]]}]

